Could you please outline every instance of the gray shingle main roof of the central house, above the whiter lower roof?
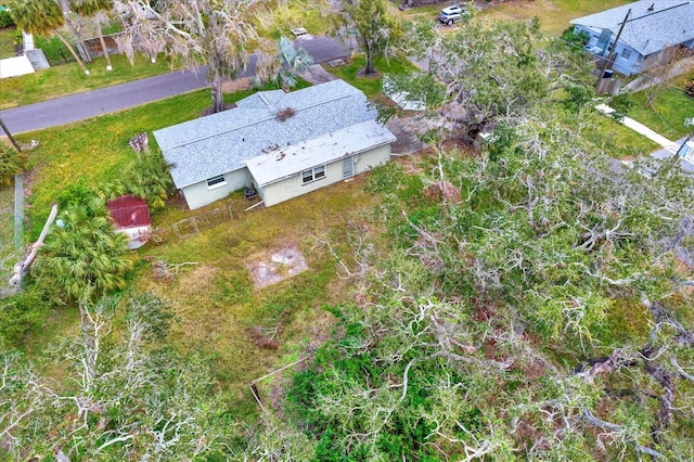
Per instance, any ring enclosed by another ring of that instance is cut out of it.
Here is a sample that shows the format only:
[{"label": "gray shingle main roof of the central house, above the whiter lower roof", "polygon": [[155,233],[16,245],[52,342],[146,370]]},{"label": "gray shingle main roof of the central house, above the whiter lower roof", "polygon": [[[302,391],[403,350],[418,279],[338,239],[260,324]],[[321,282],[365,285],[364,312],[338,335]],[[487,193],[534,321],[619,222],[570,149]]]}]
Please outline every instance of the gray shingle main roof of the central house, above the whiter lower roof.
[{"label": "gray shingle main roof of the central house, above the whiter lower roof", "polygon": [[[246,161],[352,125],[373,120],[367,97],[343,80],[285,93],[264,91],[237,107],[154,131],[177,188],[245,167]],[[295,114],[282,121],[278,111]]]}]

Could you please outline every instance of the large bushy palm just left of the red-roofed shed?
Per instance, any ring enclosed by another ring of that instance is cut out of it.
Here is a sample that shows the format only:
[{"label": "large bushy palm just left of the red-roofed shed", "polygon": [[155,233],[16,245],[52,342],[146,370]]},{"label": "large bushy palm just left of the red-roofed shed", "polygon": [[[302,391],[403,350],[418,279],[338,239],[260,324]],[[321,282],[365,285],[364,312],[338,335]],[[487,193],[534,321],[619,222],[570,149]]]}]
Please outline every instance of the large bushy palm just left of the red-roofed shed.
[{"label": "large bushy palm just left of the red-roofed shed", "polygon": [[132,268],[127,243],[125,234],[114,232],[104,200],[72,204],[41,247],[35,275],[67,300],[124,288]]}]

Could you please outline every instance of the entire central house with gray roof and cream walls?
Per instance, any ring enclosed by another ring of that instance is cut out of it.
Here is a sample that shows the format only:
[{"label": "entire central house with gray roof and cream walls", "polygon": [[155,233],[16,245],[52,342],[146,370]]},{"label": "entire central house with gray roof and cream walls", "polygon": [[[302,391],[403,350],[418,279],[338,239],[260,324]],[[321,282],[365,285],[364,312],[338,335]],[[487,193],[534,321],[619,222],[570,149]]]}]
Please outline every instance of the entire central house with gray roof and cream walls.
[{"label": "entire central house with gray roof and cream walls", "polygon": [[258,92],[154,138],[191,209],[244,188],[269,207],[388,162],[395,137],[376,115],[361,91],[333,80]]}]

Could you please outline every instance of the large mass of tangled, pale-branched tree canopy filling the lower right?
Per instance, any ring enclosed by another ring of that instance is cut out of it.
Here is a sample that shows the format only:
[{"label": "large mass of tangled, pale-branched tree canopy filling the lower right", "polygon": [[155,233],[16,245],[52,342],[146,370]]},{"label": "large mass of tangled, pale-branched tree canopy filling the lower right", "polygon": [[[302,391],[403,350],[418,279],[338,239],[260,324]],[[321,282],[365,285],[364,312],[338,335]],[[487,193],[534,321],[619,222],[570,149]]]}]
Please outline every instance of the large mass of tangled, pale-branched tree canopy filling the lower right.
[{"label": "large mass of tangled, pale-branched tree canopy filling the lower right", "polygon": [[290,395],[319,459],[691,458],[694,181],[579,127],[372,176],[391,247]]}]

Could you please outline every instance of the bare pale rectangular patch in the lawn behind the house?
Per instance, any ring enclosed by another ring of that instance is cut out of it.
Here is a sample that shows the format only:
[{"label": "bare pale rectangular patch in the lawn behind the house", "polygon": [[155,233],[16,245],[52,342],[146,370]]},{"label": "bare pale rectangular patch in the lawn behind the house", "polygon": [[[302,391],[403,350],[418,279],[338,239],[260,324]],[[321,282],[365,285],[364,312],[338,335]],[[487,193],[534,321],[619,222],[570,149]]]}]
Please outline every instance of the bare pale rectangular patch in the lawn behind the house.
[{"label": "bare pale rectangular patch in the lawn behind the house", "polygon": [[246,267],[256,288],[277,284],[308,269],[304,255],[294,245],[254,258]]}]

